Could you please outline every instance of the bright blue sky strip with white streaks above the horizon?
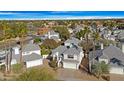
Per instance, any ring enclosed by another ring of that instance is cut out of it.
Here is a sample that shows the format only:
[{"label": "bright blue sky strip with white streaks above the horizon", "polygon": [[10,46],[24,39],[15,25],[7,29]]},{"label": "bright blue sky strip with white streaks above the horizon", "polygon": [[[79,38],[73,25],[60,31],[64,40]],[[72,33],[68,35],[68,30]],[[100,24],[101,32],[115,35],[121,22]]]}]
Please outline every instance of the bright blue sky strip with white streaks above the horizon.
[{"label": "bright blue sky strip with white streaks above the horizon", "polygon": [[124,18],[124,11],[0,11],[0,20]]}]

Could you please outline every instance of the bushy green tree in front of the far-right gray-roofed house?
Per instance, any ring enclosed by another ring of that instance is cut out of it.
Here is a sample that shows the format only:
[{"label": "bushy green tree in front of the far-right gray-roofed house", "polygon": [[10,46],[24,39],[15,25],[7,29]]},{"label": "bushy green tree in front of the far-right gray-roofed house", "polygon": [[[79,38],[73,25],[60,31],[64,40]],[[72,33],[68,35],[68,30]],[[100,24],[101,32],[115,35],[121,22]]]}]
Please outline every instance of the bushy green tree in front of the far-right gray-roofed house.
[{"label": "bushy green tree in front of the far-right gray-roofed house", "polygon": [[92,73],[95,74],[98,78],[100,78],[103,74],[109,73],[109,66],[104,61],[95,63],[91,66]]}]

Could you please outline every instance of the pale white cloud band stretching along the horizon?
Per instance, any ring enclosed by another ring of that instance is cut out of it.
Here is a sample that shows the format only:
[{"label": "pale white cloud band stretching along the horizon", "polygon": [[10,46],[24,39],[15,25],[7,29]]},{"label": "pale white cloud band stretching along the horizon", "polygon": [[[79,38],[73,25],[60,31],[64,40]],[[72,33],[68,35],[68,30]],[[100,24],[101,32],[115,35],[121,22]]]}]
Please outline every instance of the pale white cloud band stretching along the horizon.
[{"label": "pale white cloud band stretching along the horizon", "polygon": [[23,18],[1,18],[0,20],[78,20],[78,19],[122,19],[124,17],[111,17],[111,16],[45,16],[45,17],[23,17]]}]

